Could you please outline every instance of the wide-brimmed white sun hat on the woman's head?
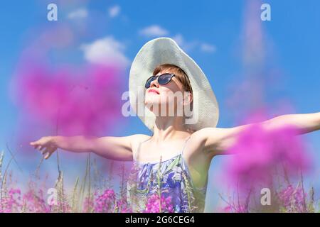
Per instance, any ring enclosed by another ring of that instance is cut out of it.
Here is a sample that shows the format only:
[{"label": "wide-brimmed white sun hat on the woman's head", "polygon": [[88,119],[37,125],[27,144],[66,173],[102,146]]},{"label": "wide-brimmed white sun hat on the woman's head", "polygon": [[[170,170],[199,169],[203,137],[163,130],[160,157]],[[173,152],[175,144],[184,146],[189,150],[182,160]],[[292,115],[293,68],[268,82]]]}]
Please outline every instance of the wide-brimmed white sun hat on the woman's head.
[{"label": "wide-brimmed white sun hat on the woman's head", "polygon": [[134,112],[153,131],[156,116],[144,106],[144,84],[158,65],[172,64],[186,72],[193,90],[193,120],[188,128],[215,127],[219,118],[218,102],[206,75],[196,62],[171,38],[150,40],[134,57],[129,73],[129,100]]}]

